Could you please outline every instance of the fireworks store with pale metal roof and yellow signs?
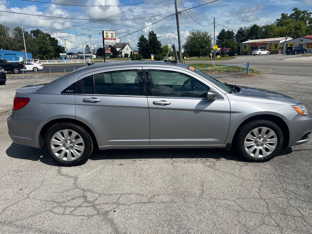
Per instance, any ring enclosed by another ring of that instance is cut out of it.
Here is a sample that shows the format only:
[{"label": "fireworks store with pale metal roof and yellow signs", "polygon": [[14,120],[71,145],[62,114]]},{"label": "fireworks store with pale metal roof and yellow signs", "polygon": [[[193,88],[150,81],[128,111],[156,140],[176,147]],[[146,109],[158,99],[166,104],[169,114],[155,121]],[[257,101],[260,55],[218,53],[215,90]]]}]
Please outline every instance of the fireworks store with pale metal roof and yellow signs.
[{"label": "fireworks store with pale metal roof and yellow signs", "polygon": [[251,54],[251,51],[264,49],[270,54],[277,54],[283,51],[283,42],[293,39],[292,37],[273,37],[265,39],[248,40],[241,43],[240,54]]}]

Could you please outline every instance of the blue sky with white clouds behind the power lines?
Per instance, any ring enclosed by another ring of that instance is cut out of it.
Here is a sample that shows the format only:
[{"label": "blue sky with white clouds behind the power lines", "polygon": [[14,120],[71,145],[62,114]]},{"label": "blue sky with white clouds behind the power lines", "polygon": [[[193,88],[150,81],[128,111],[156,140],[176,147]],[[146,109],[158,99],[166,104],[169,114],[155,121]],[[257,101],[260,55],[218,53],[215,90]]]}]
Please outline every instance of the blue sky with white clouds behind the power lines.
[{"label": "blue sky with white clouds behind the power lines", "polygon": [[[82,51],[80,33],[83,33],[83,44],[90,43],[89,29],[92,46],[95,49],[103,46],[101,42],[101,30],[115,30],[116,38],[121,37],[117,39],[116,42],[128,42],[132,49],[137,49],[139,36],[144,34],[144,36],[147,37],[148,32],[151,30],[157,34],[162,45],[171,45],[172,43],[178,45],[176,17],[172,15],[175,11],[174,0],[38,1],[73,5],[92,5],[92,7],[65,6],[25,0],[0,0],[0,10],[2,11],[31,14],[20,15],[0,12],[0,23],[10,28],[23,26],[26,31],[38,28],[43,32],[50,33],[52,37],[56,37],[61,46],[65,46],[66,39],[67,52]],[[178,11],[181,11],[185,8],[188,9],[211,2],[212,0],[177,1]],[[290,14],[294,7],[298,7],[300,10],[312,11],[312,0],[218,0],[188,10],[188,13],[184,11],[179,14],[181,44],[183,45],[185,37],[187,37],[190,32],[196,30],[207,31],[213,37],[213,17],[215,17],[216,20],[217,27],[215,32],[217,35],[223,28],[221,25],[233,29],[233,31],[236,32],[240,27],[248,27],[254,23],[258,25],[272,23],[276,18],[280,17],[281,13]],[[33,14],[88,20],[49,18],[34,16]],[[166,16],[169,17],[163,19]],[[109,19],[110,21],[100,21],[99,19]],[[159,20],[161,21],[157,22]],[[194,20],[196,22],[194,22]],[[137,30],[140,31],[135,32]],[[132,32],[134,33],[125,36]]]}]

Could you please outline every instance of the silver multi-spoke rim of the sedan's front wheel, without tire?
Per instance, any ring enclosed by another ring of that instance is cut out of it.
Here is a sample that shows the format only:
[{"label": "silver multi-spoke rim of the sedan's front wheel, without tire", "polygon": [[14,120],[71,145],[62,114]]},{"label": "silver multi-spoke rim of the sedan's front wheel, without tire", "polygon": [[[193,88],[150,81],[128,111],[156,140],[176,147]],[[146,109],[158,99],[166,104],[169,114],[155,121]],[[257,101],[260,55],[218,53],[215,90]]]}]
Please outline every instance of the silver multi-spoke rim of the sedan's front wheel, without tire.
[{"label": "silver multi-spoke rim of the sedan's front wheel, without tire", "polygon": [[251,130],[244,141],[244,148],[253,158],[264,158],[269,156],[277,146],[275,132],[266,127]]}]

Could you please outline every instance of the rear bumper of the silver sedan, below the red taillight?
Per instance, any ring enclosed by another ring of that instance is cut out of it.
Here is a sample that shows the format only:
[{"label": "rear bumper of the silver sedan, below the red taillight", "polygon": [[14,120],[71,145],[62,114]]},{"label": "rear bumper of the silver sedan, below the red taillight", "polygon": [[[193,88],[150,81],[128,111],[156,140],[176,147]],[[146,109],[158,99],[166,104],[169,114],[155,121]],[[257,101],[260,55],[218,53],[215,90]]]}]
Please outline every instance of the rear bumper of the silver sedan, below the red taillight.
[{"label": "rear bumper of the silver sedan, below the red taillight", "polygon": [[42,126],[47,122],[32,119],[16,119],[13,112],[7,118],[8,134],[14,143],[41,148],[39,134]]}]

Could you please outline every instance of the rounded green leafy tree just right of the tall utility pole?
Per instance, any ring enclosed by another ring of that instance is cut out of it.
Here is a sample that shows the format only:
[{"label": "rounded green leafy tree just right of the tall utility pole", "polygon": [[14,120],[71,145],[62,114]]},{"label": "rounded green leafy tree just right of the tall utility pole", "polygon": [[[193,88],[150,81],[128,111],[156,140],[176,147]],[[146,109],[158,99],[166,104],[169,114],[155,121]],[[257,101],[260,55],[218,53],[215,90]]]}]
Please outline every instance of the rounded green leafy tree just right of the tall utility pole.
[{"label": "rounded green leafy tree just right of the tall utility pole", "polygon": [[183,49],[189,56],[207,56],[212,51],[211,36],[208,32],[191,32],[186,38]]}]

